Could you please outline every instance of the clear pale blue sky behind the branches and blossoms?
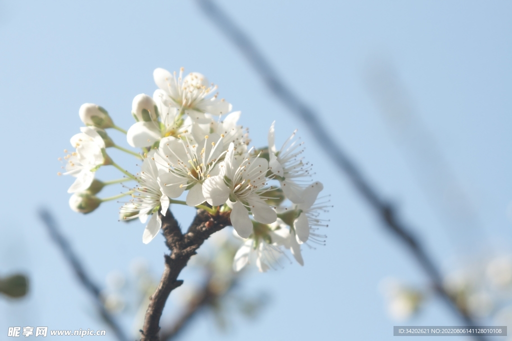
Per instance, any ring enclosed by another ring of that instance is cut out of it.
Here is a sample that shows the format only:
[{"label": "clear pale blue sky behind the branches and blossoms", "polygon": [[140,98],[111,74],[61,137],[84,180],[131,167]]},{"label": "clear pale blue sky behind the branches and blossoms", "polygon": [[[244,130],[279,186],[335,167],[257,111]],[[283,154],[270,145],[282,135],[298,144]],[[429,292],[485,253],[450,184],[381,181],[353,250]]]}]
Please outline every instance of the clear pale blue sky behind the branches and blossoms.
[{"label": "clear pale blue sky behind the branches and blossoms", "polygon": [[[286,82],[321,114],[319,119],[371,183],[396,203],[400,216],[414,226],[443,271],[467,258],[457,251],[462,239],[473,240],[462,248],[471,249],[475,257],[489,249],[510,251],[512,230],[506,215],[512,199],[510,2],[220,4],[253,37]],[[425,196],[382,119],[365,80],[369,65],[379,60],[394,65],[416,115],[475,207],[483,227],[467,231],[470,238],[464,233],[458,240],[447,232],[450,225]],[[128,271],[134,258],[149,260],[155,276],[161,274],[163,237],[144,245],[144,225],[118,222],[115,202],[86,216],[72,212],[66,192],[72,179],[56,176],[61,166],[57,157],[70,148],[69,138],[79,131],[82,103],[102,105],[117,125],[128,128],[133,123],[133,97],[152,94],[156,88],[153,70],[174,71],[181,66],[219,85],[221,96],[234,110],[242,110],[241,124],[250,127],[255,146],[266,145],[274,120],[278,142],[298,128],[315,178],[324,183],[334,205],[327,246],[305,249],[304,267],[286,264],[267,274],[254,272],[242,284],[249,292],[266,291],[271,296],[258,319],[235,316],[233,330],[224,334],[211,315],[204,314],[181,339],[392,339],[392,326],[397,323],[386,315],[377,286],[386,276],[425,283],[417,264],[382,229],[307,127],[269,94],[196,4],[170,0],[0,2],[0,143],[4,146],[0,274],[23,270],[31,279],[27,299],[0,300],[0,335],[10,326],[27,325],[104,329],[88,295],[39,222],[36,212],[41,206],[54,212],[102,285],[110,271]],[[120,133],[111,135],[127,146]],[[131,158],[116,151],[112,155],[126,168],[136,169]],[[114,177],[109,170],[101,171],[100,178]],[[194,214],[182,207],[174,212],[183,225]],[[123,320],[127,329],[130,323]],[[458,325],[459,321],[434,300],[409,323]]]}]

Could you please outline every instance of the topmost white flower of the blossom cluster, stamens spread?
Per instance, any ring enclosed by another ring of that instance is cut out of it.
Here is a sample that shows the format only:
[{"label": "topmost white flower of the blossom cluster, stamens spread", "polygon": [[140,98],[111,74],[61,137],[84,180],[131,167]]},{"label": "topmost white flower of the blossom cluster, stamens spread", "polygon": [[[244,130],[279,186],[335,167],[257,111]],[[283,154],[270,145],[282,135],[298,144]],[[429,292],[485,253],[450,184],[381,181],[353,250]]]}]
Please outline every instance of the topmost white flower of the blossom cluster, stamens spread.
[{"label": "topmost white flower of the blossom cluster, stamens spread", "polygon": [[219,116],[231,111],[231,104],[214,94],[217,86],[209,86],[206,77],[197,72],[183,78],[183,70],[182,67],[178,78],[176,72],[172,75],[160,68],[153,72],[155,83],[166,95],[165,104],[183,109],[198,123],[208,123],[205,112]]}]

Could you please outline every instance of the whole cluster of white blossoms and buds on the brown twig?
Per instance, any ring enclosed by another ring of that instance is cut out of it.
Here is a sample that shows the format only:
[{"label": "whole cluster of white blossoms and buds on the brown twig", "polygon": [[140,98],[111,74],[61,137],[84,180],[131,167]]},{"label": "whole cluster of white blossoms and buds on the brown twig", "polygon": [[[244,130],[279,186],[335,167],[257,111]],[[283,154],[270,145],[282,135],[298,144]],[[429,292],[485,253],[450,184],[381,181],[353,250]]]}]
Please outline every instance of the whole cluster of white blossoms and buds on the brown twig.
[{"label": "whole cluster of white blossoms and buds on the brown twig", "polygon": [[[255,262],[265,271],[290,249],[304,264],[301,245],[322,244],[317,233],[327,226],[320,217],[328,201],[319,198],[322,183],[311,180],[311,165],[303,161],[303,144],[295,132],[281,149],[275,147],[274,123],[268,132],[268,147],[249,148],[247,129],[238,124],[241,112],[216,92],[205,76],[183,77],[156,69],[158,89],[153,96],[140,94],[132,103],[135,123],[124,131],[108,112],[95,104],[83,104],[79,116],[86,127],[71,138],[74,152],[64,157],[65,175],[75,177],[68,192],[70,206],[81,213],[95,210],[101,202],[131,196],[120,209],[123,220],[139,218],[146,224],[142,241],[150,242],[159,232],[170,204],[204,209],[211,215],[230,212],[236,234],[245,239],[234,257],[235,270]],[[105,129],[126,134],[127,143],[139,152],[116,145]],[[138,157],[141,169],[132,174],[106,153],[117,148]],[[101,166],[112,165],[124,177],[111,181],[95,179]],[[59,173],[60,174],[60,173]],[[100,199],[106,185],[136,181],[120,195]],[[186,195],[184,195],[186,192]],[[185,200],[178,200],[182,195]],[[279,264],[279,263],[278,263]]]}]

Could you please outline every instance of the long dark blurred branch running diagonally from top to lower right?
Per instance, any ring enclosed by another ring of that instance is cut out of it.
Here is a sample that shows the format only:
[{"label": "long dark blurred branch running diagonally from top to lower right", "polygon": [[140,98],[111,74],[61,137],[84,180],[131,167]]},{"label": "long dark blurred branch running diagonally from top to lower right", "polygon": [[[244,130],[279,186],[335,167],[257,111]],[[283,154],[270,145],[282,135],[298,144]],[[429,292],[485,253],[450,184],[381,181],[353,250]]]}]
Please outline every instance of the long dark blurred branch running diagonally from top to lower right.
[{"label": "long dark blurred branch running diagonally from top to lower right", "polygon": [[[453,312],[461,317],[467,326],[475,326],[471,316],[459,310],[451,295],[444,289],[440,271],[434,265],[431,257],[425,252],[419,239],[397,217],[396,209],[392,204],[388,200],[383,199],[382,195],[370,185],[370,182],[362,175],[362,172],[349,158],[348,154],[325,129],[318,115],[286,86],[251,39],[218,5],[211,0],[196,0],[196,2],[204,14],[245,56],[254,70],[263,79],[270,92],[310,129],[318,145],[322,146],[322,150],[329,155],[329,159],[335,163],[337,168],[348,176],[352,185],[380,217],[388,230],[407,245],[425,274],[432,281],[439,297],[443,299]],[[477,339],[483,340],[484,338],[477,337]]]}]

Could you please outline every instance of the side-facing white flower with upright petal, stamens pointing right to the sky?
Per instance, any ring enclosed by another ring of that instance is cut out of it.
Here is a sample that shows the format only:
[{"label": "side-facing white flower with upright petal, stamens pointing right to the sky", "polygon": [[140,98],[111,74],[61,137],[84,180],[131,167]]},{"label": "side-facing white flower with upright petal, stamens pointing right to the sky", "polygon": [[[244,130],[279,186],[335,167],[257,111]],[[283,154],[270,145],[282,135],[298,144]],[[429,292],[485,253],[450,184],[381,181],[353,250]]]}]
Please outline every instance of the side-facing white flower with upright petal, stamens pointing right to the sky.
[{"label": "side-facing white flower with upright petal, stamens pointing right to the sky", "polygon": [[[275,148],[275,121],[268,131],[269,168],[275,179],[279,180],[281,189],[286,197],[293,203],[301,203],[303,187],[300,183],[306,183],[304,178],[309,177],[310,166],[302,162],[302,143],[294,140],[296,130],[286,140],[281,149]],[[303,186],[304,186],[303,184]]]}]

